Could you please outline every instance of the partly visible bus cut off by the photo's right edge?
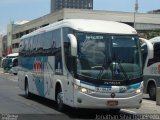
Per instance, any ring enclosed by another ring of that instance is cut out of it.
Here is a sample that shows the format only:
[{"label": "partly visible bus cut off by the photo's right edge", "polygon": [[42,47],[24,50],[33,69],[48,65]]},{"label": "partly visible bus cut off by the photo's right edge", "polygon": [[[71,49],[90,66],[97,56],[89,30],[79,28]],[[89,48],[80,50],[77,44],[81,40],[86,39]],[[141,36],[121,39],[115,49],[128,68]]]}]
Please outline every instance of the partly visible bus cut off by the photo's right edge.
[{"label": "partly visible bus cut off by the photo's right edge", "polygon": [[150,99],[156,100],[156,88],[160,87],[160,37],[149,40],[153,44],[154,57],[147,57],[147,45],[143,45],[144,60],[144,93],[149,94]]}]

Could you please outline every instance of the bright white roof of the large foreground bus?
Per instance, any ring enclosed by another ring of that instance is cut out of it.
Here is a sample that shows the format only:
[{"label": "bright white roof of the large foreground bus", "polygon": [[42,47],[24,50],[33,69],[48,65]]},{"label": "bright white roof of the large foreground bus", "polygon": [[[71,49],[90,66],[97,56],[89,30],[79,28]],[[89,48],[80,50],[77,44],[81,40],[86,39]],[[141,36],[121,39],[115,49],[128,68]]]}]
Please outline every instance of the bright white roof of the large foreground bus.
[{"label": "bright white roof of the large foreground bus", "polygon": [[95,32],[95,33],[111,33],[111,34],[137,34],[136,30],[131,26],[104,20],[89,20],[89,19],[65,19],[46,27],[40,28],[22,38],[40,34],[43,32],[51,31],[54,29],[69,27],[82,32]]}]

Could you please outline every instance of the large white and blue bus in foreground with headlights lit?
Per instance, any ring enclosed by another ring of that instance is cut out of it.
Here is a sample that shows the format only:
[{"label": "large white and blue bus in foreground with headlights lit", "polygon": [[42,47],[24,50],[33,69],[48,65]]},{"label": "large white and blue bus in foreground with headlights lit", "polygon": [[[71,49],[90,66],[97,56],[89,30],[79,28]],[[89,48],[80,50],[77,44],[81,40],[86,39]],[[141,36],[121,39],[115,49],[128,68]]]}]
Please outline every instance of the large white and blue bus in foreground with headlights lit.
[{"label": "large white and blue bus in foreground with headlights lit", "polygon": [[118,22],[67,19],[21,38],[19,87],[75,108],[139,108],[140,40]]}]

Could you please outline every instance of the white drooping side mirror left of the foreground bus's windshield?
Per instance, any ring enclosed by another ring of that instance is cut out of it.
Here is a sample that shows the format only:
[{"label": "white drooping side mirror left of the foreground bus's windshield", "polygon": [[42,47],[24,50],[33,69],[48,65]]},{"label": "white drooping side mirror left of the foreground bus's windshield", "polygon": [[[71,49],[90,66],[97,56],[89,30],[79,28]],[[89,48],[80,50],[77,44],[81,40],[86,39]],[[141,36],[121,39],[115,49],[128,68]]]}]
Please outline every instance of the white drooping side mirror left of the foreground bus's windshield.
[{"label": "white drooping side mirror left of the foreground bus's windshield", "polygon": [[77,57],[77,39],[73,34],[68,34],[71,42],[71,55]]}]

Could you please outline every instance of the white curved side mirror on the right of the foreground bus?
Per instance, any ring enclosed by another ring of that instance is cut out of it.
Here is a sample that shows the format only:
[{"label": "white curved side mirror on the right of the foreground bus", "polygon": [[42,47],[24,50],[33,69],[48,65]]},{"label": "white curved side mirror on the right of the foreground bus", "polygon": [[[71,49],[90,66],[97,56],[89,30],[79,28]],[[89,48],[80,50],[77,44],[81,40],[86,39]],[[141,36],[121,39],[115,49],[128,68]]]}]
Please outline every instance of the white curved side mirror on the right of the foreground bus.
[{"label": "white curved side mirror on the right of the foreground bus", "polygon": [[154,56],[153,54],[153,44],[147,40],[147,39],[144,39],[144,38],[140,38],[141,41],[143,41],[146,45],[147,45],[147,48],[148,48],[148,59],[152,59]]}]

